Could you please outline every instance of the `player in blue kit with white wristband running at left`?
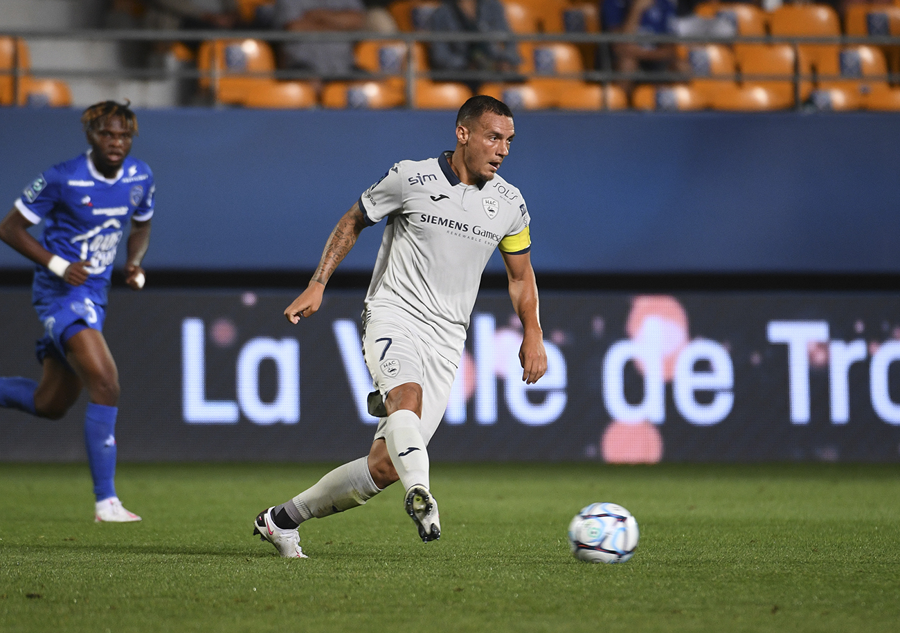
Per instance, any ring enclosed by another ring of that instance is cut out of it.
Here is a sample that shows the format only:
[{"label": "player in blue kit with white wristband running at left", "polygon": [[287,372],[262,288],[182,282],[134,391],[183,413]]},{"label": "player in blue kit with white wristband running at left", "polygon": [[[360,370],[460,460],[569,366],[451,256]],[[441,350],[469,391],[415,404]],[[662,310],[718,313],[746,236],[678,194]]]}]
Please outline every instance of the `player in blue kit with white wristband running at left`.
[{"label": "player in blue kit with white wristband running at left", "polygon": [[[116,496],[115,423],[119,373],[103,338],[112,263],[130,220],[125,282],[144,285],[153,215],[153,174],[128,156],[138,120],[128,104],[95,103],[81,117],[90,149],[53,165],[31,183],[0,222],[0,239],[36,263],[32,303],[44,326],[37,342],[40,383],[0,378],[0,406],[58,420],[82,388],[87,460],[94,480],[94,520],[133,522]],[[40,241],[28,228],[44,220]]]}]

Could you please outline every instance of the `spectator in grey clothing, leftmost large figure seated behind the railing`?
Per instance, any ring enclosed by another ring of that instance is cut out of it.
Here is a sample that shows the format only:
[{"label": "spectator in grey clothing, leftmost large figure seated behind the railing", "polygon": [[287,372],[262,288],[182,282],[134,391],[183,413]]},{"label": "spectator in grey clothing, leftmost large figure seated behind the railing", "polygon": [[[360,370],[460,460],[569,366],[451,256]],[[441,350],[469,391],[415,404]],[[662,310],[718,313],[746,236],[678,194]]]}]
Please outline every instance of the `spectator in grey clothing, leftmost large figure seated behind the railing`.
[{"label": "spectator in grey clothing, leftmost large figure seated behind the railing", "polygon": [[[362,0],[277,0],[275,28],[285,31],[364,31]],[[285,42],[282,66],[308,70],[323,79],[346,79],[355,70],[353,42]]]}]

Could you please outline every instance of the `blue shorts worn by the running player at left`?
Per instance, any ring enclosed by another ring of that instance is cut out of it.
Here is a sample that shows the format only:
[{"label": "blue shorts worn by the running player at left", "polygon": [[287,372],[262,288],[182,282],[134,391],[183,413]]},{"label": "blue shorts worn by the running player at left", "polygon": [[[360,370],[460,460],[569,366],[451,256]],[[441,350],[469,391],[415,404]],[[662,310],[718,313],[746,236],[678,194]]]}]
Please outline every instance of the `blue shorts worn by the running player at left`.
[{"label": "blue shorts worn by the running player at left", "polygon": [[49,355],[69,367],[66,361],[68,339],[88,327],[103,332],[106,307],[95,304],[86,294],[84,289],[76,286],[65,295],[40,298],[34,302],[34,309],[44,325],[44,335],[35,343],[38,362],[43,364]]}]

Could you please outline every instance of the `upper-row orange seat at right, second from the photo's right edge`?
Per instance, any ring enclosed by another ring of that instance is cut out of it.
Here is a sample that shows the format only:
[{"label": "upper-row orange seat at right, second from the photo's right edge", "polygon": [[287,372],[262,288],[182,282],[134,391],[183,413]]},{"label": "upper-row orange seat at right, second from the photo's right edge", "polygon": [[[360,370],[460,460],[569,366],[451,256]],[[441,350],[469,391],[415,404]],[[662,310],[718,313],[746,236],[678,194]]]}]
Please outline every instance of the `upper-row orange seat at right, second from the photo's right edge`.
[{"label": "upper-row orange seat at right, second from the photo's right edge", "polygon": [[[827,4],[782,4],[773,11],[769,21],[770,33],[779,37],[797,35],[800,37],[838,37],[841,35],[841,21],[834,9]],[[840,45],[799,44],[800,72],[829,74]]]}]

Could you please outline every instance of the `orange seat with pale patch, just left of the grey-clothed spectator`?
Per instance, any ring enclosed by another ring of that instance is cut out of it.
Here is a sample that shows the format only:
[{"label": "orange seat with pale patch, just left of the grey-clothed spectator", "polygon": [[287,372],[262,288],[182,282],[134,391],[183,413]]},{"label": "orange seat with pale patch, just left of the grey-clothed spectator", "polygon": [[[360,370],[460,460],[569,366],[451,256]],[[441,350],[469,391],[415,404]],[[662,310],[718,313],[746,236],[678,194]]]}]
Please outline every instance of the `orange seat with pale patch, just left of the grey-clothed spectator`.
[{"label": "orange seat with pale patch, just left of the grey-clothed spectator", "polygon": [[[197,67],[202,72],[200,87],[210,90],[220,103],[247,105],[270,103],[257,107],[311,107],[308,99],[296,102],[300,95],[311,94],[311,85],[306,82],[276,82],[275,54],[265,41],[261,40],[214,40],[204,41],[197,52]],[[298,87],[273,87],[273,84],[298,84]],[[260,95],[250,99],[259,91]],[[281,95],[288,105],[276,105]]]}]

